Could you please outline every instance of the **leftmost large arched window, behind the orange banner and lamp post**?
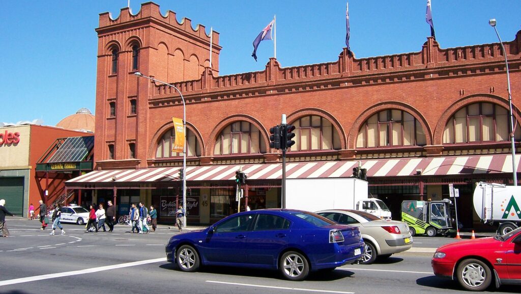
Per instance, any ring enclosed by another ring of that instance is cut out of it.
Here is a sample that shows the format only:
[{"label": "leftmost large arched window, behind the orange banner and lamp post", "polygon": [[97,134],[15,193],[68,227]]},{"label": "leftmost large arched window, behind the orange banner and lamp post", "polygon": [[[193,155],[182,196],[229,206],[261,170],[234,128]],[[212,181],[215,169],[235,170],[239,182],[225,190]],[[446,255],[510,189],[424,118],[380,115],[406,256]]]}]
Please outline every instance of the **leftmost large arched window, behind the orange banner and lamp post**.
[{"label": "leftmost large arched window, behind the orange banner and lamp post", "polygon": [[[172,147],[176,139],[176,131],[171,128],[157,142],[156,158],[170,158],[182,156],[181,152],[173,152]],[[187,128],[186,136],[187,156],[201,156],[201,146],[195,134]]]}]

